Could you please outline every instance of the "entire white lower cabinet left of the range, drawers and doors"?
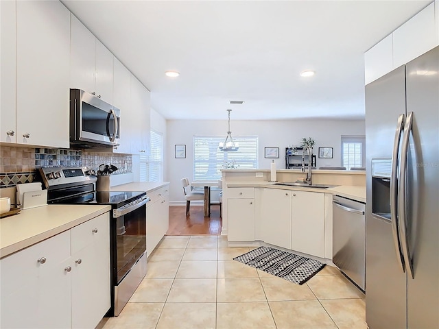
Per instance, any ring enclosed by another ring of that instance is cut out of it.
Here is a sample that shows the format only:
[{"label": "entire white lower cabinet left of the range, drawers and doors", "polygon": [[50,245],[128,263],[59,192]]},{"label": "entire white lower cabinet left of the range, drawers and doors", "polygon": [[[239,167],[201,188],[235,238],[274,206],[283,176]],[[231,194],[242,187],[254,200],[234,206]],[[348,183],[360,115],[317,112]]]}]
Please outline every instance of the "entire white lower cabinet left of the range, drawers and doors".
[{"label": "entire white lower cabinet left of the range, drawers and doors", "polygon": [[2,258],[0,328],[95,328],[110,308],[109,238],[106,213]]}]

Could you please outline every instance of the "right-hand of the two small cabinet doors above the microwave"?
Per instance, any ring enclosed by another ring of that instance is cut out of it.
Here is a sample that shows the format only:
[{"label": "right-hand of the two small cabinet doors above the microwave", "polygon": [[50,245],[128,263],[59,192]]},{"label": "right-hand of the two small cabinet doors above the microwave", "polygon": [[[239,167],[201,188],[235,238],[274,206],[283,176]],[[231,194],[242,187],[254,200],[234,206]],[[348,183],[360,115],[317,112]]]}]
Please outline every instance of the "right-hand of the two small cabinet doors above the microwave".
[{"label": "right-hand of the two small cabinet doors above the microwave", "polygon": [[96,39],[95,91],[96,97],[112,104],[113,55]]}]

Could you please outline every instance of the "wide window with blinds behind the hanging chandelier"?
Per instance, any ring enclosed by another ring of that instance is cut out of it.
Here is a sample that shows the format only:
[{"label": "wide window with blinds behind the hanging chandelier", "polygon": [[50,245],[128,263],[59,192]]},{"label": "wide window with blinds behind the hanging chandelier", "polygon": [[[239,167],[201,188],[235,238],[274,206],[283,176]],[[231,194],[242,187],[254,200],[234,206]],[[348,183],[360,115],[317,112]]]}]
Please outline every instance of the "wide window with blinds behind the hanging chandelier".
[{"label": "wide window with blinds behind the hanging chandelier", "polygon": [[220,151],[224,136],[193,136],[193,180],[219,180],[224,162],[235,162],[239,169],[257,169],[258,137],[238,136],[237,151]]}]

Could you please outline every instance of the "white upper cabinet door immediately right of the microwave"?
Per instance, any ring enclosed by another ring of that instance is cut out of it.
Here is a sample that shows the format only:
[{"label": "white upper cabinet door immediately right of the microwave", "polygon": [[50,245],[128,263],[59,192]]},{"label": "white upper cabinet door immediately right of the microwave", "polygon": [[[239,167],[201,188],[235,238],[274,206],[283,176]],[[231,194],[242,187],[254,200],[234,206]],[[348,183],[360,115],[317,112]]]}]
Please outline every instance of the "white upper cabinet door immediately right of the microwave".
[{"label": "white upper cabinet door immediately right of the microwave", "polygon": [[116,153],[130,154],[130,139],[132,138],[132,131],[130,120],[135,120],[131,117],[131,73],[123,66],[117,58],[114,58],[114,74],[113,74],[113,105],[121,110],[120,145],[114,147]]}]

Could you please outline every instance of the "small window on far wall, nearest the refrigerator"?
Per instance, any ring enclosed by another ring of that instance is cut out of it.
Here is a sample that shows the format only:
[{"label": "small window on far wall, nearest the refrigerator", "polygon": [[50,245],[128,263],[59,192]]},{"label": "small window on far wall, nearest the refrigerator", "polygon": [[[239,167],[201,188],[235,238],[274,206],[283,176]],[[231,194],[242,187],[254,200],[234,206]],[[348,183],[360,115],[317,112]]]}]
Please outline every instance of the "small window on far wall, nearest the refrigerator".
[{"label": "small window on far wall, nearest the refrigerator", "polygon": [[342,136],[342,167],[365,167],[366,136]]}]

